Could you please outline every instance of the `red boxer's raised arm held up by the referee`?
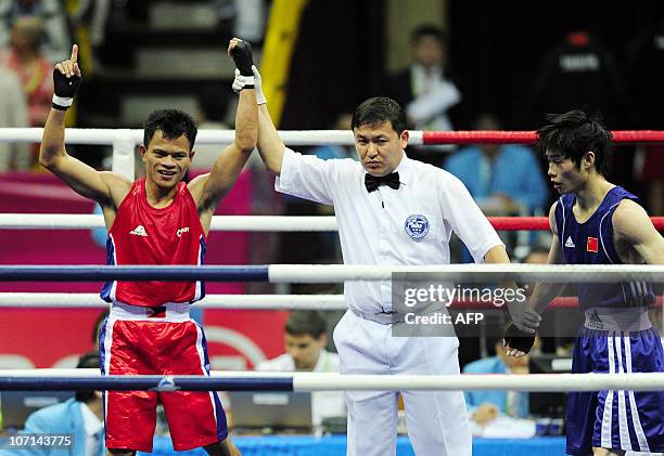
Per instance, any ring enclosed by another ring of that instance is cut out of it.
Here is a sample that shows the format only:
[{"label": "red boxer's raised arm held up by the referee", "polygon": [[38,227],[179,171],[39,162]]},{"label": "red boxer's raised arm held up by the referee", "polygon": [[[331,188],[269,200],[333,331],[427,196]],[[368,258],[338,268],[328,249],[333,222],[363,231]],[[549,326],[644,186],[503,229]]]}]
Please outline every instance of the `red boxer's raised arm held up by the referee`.
[{"label": "red boxer's raised arm held up by the referee", "polygon": [[[228,47],[228,53],[235,61],[235,65],[241,64],[240,60],[248,60],[251,71],[252,51],[247,42],[233,38]],[[217,205],[230,192],[246,160],[256,148],[258,134],[256,91],[246,87],[239,92],[240,102],[235,112],[233,143],[221,151],[208,173],[199,175],[189,183],[189,190],[196,201],[205,230],[209,226],[212,213]]]}]

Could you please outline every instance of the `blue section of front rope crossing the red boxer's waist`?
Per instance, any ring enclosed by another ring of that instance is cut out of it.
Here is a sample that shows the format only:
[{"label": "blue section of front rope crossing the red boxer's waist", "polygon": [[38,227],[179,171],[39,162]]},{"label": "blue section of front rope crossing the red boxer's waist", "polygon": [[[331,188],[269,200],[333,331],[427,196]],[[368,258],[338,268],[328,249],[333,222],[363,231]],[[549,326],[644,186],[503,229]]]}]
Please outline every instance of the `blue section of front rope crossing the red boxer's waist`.
[{"label": "blue section of front rope crossing the red boxer's waist", "polygon": [[269,282],[268,265],[251,266],[0,266],[0,282]]}]

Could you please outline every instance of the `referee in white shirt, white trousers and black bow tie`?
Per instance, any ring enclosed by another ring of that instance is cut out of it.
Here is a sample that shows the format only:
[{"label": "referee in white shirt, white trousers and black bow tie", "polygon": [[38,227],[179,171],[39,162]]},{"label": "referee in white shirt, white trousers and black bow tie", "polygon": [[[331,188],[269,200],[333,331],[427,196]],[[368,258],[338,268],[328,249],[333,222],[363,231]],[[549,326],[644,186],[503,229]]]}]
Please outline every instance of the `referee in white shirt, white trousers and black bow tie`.
[{"label": "referee in white shirt, white trousers and black bow tie", "polygon": [[[449,263],[455,232],[476,262],[509,263],[505,246],[463,184],[412,160],[406,115],[393,100],[370,99],[353,116],[359,161],[321,160],[286,148],[272,125],[254,67],[234,90],[256,88],[258,151],[278,174],[276,188],[334,205],[345,264]],[[394,337],[390,282],[349,281],[349,310],[334,330],[342,374],[459,374],[456,336]],[[396,305],[395,305],[396,308]],[[470,456],[471,432],[461,391],[401,391],[408,434],[418,456]],[[396,452],[398,393],[347,391],[349,456]]]}]

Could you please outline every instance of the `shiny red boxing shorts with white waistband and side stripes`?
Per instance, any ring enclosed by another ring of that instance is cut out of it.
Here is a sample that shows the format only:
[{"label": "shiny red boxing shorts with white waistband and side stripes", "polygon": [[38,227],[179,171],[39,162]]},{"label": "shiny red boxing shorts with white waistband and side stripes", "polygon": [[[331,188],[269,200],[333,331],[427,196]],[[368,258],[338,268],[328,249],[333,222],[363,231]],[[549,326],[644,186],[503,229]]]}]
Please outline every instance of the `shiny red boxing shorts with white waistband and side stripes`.
[{"label": "shiny red boxing shorts with white waistband and side stripes", "polygon": [[[115,302],[100,331],[102,375],[209,376],[203,328],[189,304],[141,308]],[[215,391],[106,391],[106,447],[152,452],[157,399],[176,451],[222,441],[226,414]]]}]

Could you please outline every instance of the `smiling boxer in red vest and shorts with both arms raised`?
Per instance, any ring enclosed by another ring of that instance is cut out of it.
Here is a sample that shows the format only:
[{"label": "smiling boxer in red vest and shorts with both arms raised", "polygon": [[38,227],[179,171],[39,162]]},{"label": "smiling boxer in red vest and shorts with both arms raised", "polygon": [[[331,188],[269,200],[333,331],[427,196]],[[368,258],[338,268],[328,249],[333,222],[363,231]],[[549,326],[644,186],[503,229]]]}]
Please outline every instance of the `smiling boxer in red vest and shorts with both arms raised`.
[{"label": "smiling boxer in red vest and shorts with both arms raised", "polygon": [[[247,65],[251,74],[248,43],[233,39],[228,52],[243,74]],[[189,184],[181,180],[194,156],[194,121],[176,109],[152,113],[140,146],[145,178],[131,182],[95,171],[65,151],[65,114],[81,82],[77,54],[74,44],[71,58],[53,70],[55,94],[43,129],[40,164],[101,205],[108,229],[108,264],[202,264],[213,212],[256,146],[255,91],[245,86],[240,92],[234,142],[219,154],[210,172]],[[208,376],[205,335],[189,317],[189,305],[203,296],[202,283],[106,283],[102,297],[113,304],[100,331],[102,373]],[[240,455],[228,439],[224,408],[212,391],[107,392],[110,454],[152,451],[157,398],[164,404],[175,450],[202,446],[210,455]]]}]

